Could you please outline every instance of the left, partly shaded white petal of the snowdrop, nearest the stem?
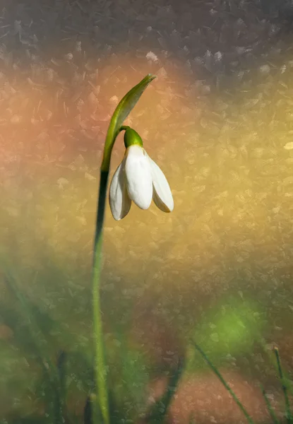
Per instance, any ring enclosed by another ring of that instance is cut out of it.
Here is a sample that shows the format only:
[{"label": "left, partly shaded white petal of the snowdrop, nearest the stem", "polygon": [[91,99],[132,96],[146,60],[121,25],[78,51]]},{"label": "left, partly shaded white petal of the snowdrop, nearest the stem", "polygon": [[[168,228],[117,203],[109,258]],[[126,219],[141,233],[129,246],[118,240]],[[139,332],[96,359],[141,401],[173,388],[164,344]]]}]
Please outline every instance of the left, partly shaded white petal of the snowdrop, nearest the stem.
[{"label": "left, partly shaded white petal of the snowdrop, nearest the stem", "polygon": [[109,189],[109,204],[113,218],[116,220],[124,218],[131,208],[131,199],[129,199],[126,189],[124,167],[125,158],[117,167]]}]

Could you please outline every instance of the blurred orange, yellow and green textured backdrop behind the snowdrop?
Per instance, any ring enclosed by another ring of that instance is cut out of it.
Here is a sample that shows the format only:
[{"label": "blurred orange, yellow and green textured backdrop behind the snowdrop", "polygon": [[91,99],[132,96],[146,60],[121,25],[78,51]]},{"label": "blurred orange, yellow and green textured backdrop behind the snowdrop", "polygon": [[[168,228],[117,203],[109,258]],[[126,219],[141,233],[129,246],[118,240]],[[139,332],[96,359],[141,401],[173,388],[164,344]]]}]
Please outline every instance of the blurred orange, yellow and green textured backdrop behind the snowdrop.
[{"label": "blurred orange, yellow and green textured backdrop behind the snowdrop", "polygon": [[[102,149],[116,105],[147,73],[157,78],[126,124],[165,172],[175,207],[133,206],[116,222],[107,205],[102,308],[114,391],[136,422],[186,355],[171,422],[192,413],[196,423],[244,423],[190,348],[194,337],[256,422],[270,422],[260,382],[282,416],[270,350],[280,348],[290,376],[292,19],[282,0],[1,1],[3,423],[40,422],[45,396],[6,266],[37,309],[48,355],[68,355],[68,410],[82,422]],[[119,136],[112,174],[123,155]]]}]

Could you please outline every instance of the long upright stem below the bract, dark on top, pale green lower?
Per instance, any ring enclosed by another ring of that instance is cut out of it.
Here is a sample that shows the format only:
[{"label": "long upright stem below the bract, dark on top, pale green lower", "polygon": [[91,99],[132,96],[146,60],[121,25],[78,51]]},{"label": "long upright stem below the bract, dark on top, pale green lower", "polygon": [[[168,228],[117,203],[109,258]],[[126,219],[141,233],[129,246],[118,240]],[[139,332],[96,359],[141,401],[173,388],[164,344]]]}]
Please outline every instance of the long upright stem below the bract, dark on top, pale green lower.
[{"label": "long upright stem below the bract, dark on top, pale green lower", "polygon": [[[97,205],[95,228],[94,258],[92,265],[92,300],[95,334],[95,384],[104,424],[109,424],[109,399],[107,389],[107,370],[104,362],[104,339],[102,333],[102,312],[100,303],[100,271],[102,263],[102,229],[106,204],[109,172],[100,172],[100,189]],[[96,417],[95,417],[96,419]]]}]

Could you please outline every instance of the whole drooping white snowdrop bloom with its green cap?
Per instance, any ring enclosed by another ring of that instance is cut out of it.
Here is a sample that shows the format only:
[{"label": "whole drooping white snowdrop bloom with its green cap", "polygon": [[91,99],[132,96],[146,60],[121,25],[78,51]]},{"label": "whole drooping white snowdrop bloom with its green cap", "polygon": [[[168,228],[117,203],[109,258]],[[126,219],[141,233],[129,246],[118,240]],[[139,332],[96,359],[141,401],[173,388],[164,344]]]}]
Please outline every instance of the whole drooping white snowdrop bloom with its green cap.
[{"label": "whole drooping white snowdrop bloom with its green cap", "polygon": [[174,201],[171,189],[160,167],[143,148],[143,141],[136,131],[126,129],[124,159],[114,173],[109,204],[114,219],[124,218],[133,201],[140,209],[148,209],[152,199],[163,212],[172,212]]}]

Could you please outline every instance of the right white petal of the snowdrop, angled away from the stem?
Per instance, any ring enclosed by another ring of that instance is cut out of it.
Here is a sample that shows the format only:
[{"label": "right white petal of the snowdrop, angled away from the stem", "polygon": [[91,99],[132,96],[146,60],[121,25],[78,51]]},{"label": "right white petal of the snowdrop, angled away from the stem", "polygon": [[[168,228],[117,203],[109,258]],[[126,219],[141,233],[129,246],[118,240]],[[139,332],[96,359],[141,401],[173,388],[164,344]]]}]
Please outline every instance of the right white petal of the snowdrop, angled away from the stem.
[{"label": "right white petal of the snowdrop, angled away from the stem", "polygon": [[174,200],[167,178],[160,167],[148,156],[153,179],[153,200],[157,207],[163,212],[172,212]]}]

